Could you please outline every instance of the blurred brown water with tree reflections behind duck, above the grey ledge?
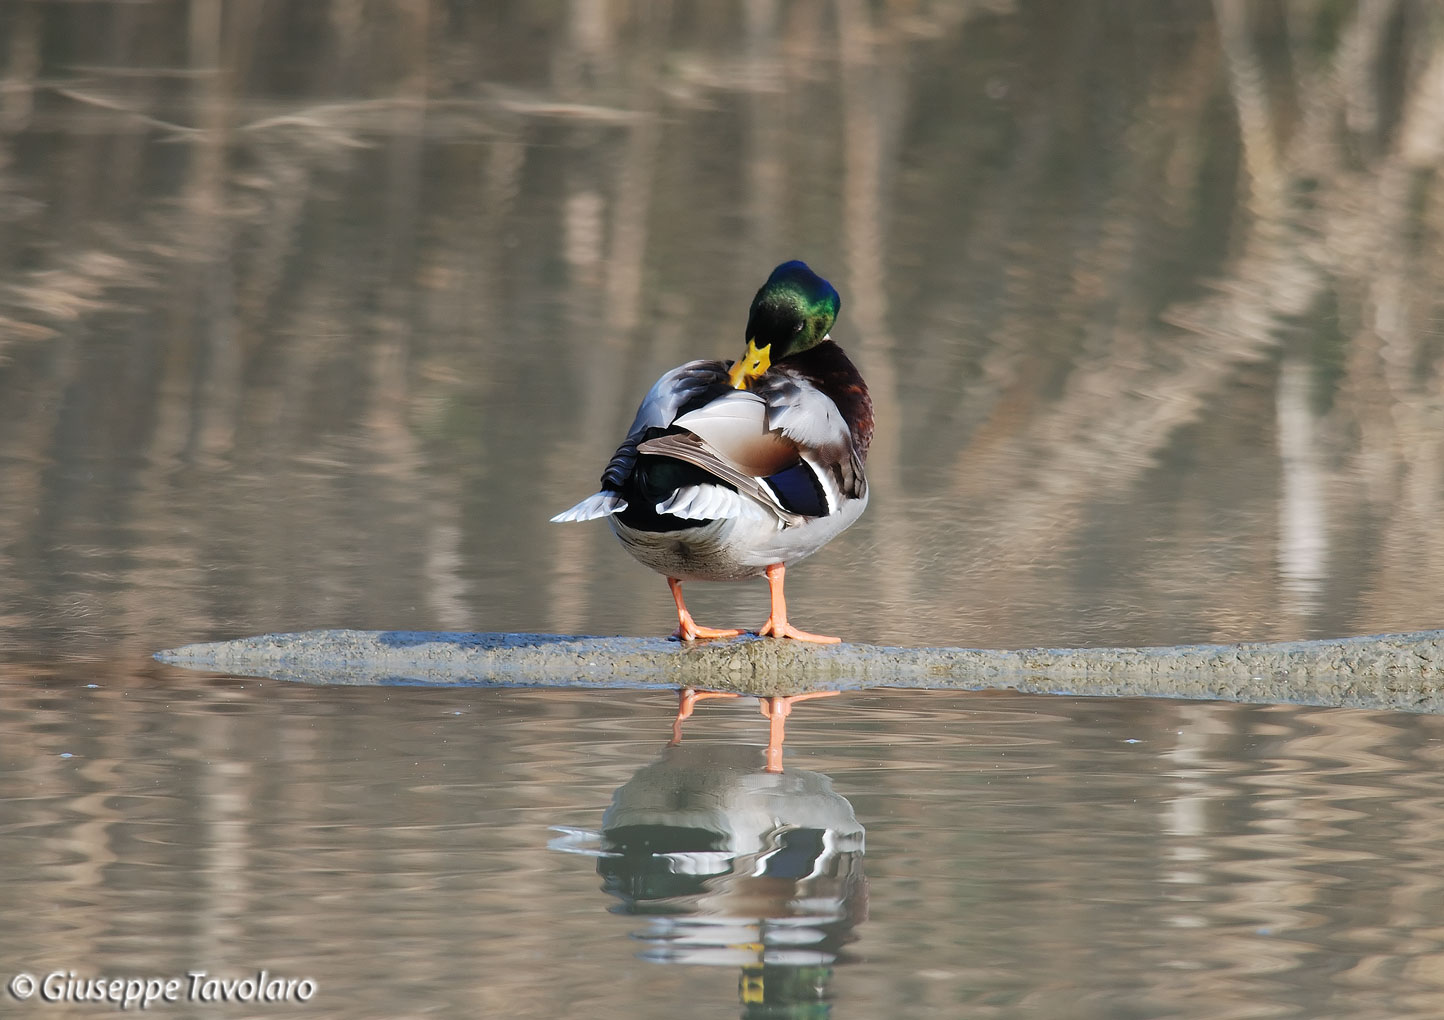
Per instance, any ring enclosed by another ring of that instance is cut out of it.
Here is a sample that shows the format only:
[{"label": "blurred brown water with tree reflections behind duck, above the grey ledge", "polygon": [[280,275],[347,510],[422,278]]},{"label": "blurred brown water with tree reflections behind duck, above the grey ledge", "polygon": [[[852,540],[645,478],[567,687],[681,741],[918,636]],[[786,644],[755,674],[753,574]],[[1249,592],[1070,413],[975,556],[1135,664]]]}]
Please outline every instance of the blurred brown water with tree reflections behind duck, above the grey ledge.
[{"label": "blurred brown water with tree reflections behind duck, above the grey ledge", "polygon": [[16,641],[660,630],[546,517],[784,257],[879,407],[813,626],[1444,615],[1435,4],[17,0],[0,39]]}]

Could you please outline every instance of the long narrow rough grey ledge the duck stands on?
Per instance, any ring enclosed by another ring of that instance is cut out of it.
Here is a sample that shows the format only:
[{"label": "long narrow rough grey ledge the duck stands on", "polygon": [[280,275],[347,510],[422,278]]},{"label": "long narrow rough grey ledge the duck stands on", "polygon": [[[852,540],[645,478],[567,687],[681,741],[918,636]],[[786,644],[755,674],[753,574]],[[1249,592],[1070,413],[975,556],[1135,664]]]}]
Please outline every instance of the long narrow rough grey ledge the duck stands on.
[{"label": "long narrow rough grey ledge the duck stands on", "polygon": [[700,688],[793,695],[853,688],[1196,698],[1444,711],[1444,631],[1142,649],[895,649],[775,639],[316,630],[186,644],[176,666],[308,683]]}]

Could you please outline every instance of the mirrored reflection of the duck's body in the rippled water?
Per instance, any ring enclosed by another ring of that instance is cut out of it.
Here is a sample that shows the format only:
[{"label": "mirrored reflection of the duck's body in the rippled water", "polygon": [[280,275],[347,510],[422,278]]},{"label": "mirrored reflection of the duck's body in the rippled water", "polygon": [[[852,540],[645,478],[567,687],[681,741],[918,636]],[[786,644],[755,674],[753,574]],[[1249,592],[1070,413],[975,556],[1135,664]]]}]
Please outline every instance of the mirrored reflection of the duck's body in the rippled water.
[{"label": "mirrored reflection of the duck's body in the rippled water", "polygon": [[644,959],[739,968],[744,1017],[825,1017],[866,917],[865,832],[830,779],[752,756],[667,747],[612,795],[591,852],[612,912],[648,919]]}]

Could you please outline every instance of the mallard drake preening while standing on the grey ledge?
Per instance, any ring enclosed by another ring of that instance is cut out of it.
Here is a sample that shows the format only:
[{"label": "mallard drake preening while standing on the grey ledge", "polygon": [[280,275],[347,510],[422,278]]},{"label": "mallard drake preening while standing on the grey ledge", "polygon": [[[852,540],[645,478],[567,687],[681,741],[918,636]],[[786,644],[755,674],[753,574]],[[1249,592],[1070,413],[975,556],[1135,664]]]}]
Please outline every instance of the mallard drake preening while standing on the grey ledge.
[{"label": "mallard drake preening while standing on the grey ledge", "polygon": [[868,386],[829,335],[840,299],[806,263],[773,270],[752,298],[736,361],[689,361],[651,387],[602,472],[602,488],[553,522],[606,517],[627,550],[667,578],[673,637],[735,637],[687,613],[683,581],[767,576],[755,633],[801,641],[787,618],[787,566],[868,506]]}]

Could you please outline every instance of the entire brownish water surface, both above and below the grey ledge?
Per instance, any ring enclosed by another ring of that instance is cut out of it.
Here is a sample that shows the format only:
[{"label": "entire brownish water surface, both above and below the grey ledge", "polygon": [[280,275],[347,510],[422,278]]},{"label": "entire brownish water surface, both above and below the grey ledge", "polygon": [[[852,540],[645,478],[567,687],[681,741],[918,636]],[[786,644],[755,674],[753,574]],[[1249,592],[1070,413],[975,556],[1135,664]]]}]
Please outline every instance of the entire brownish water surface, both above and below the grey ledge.
[{"label": "entire brownish water surface, both above and below the grey ledge", "polygon": [[1440,40],[1408,0],[0,0],[0,978],[318,982],[227,1016],[1444,1014],[1437,718],[853,693],[774,777],[749,704],[669,751],[658,695],[149,660],[669,631],[660,578],[546,519],[793,257],[878,407],[800,626],[1438,626]]}]

